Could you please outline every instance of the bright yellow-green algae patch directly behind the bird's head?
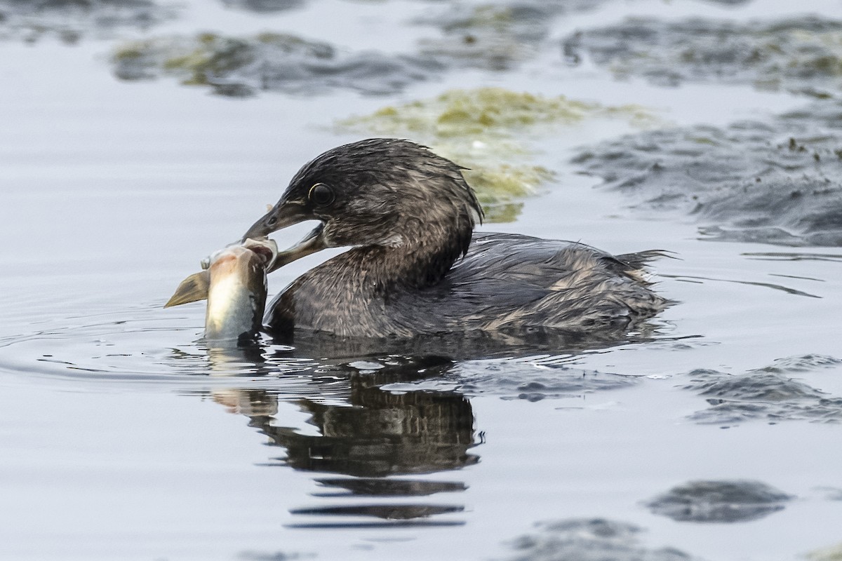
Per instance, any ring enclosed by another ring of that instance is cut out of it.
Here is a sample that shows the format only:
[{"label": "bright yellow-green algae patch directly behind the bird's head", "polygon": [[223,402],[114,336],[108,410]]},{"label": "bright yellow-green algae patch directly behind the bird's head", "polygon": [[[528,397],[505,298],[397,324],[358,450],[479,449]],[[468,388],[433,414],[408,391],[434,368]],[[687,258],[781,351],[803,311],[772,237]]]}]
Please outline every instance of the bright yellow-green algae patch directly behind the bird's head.
[{"label": "bright yellow-green algae patch directly behind the bird's head", "polygon": [[500,87],[450,90],[437,98],[386,106],[373,114],[344,119],[344,130],[408,137],[466,167],[488,222],[509,222],[520,199],[540,193],[556,178],[536,165],[531,140],[553,127],[594,118],[653,121],[638,106],[606,107],[564,96],[546,97]]}]

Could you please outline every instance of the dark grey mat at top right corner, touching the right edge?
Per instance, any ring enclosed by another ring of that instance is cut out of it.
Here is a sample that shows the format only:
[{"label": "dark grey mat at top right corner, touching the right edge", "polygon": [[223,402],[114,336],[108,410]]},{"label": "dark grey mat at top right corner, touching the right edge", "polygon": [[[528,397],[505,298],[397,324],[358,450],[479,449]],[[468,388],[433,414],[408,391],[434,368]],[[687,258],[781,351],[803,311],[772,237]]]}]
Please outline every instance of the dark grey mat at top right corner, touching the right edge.
[{"label": "dark grey mat at top right corner, touching the right edge", "polygon": [[818,98],[842,91],[842,21],[817,16],[740,24],[717,19],[630,18],[564,40],[565,59],[588,56],[617,77],[661,86],[746,83]]}]

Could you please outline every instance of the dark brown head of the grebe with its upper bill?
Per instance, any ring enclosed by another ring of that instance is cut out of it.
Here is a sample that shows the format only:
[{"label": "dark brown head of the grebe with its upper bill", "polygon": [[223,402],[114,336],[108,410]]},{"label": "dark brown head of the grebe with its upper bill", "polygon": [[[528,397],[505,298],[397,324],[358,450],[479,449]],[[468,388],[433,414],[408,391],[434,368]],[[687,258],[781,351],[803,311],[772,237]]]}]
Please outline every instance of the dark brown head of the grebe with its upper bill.
[{"label": "dark brown head of the grebe with its upper bill", "polygon": [[482,209],[461,167],[408,140],[375,138],[307,163],[244,238],[320,220],[323,246],[466,251]]}]

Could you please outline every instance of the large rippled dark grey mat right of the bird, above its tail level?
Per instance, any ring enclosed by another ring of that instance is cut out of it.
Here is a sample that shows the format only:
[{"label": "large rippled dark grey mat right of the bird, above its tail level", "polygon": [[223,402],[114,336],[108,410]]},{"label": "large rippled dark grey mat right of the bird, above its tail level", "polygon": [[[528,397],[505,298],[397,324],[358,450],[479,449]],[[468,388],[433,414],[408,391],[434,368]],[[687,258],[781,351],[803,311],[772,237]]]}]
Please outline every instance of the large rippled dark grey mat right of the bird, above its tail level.
[{"label": "large rippled dark grey mat right of the bird, above its tail level", "polygon": [[637,209],[694,215],[707,237],[842,246],[839,103],[813,103],[768,123],[627,135],[573,161]]}]

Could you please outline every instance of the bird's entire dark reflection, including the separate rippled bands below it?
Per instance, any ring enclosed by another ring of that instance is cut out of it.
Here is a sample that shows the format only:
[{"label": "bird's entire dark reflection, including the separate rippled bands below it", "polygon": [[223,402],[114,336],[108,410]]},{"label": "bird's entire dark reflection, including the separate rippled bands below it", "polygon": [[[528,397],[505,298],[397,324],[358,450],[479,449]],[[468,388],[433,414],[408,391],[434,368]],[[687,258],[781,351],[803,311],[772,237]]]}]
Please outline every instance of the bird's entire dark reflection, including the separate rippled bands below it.
[{"label": "bird's entire dark reflection, including the separate rippled bands below it", "polygon": [[[369,363],[379,367],[374,371],[348,366],[333,368],[332,375],[321,382],[305,377],[323,390],[317,400],[296,400],[309,414],[306,424],[315,427],[317,434],[278,426],[276,390],[216,389],[211,396],[232,413],[247,415],[249,426],[269,437],[270,446],[283,447],[280,465],[320,474],[314,480],[324,490],[313,496],[344,498],[343,505],[331,501],[290,510],[293,515],[325,517],[296,521],[291,527],[455,526],[464,521],[448,515],[464,511],[464,505],[452,500],[419,502],[415,497],[467,489],[460,480],[444,479],[450,476],[428,479],[423,474],[446,474],[479,461],[472,453],[478,442],[471,402],[456,392],[392,393],[382,388],[438,378],[451,365],[438,357],[390,356]],[[286,390],[281,394],[285,400],[291,395]],[[339,394],[344,397],[337,399]],[[326,473],[332,476],[323,477]],[[344,520],[337,521],[336,516]],[[349,520],[349,516],[358,518]]]}]

